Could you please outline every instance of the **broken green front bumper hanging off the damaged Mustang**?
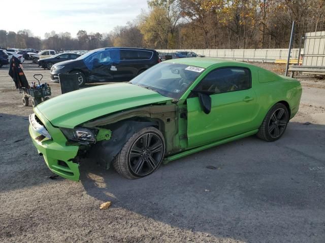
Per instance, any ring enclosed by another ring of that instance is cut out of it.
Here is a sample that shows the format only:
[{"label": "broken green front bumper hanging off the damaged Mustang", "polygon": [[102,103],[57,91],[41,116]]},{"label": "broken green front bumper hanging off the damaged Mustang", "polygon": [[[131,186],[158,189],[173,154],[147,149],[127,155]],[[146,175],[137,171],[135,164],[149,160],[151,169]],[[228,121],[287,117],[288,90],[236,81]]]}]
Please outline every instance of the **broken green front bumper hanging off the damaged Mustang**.
[{"label": "broken green front bumper hanging off the damaged Mustang", "polygon": [[63,178],[78,181],[80,177],[79,164],[74,162],[74,158],[77,156],[79,146],[67,146],[67,139],[62,132],[53,127],[42,113],[38,112],[37,107],[34,110],[37,122],[51,134],[51,139],[40,134],[35,126],[30,124],[29,134],[32,143],[39,154],[43,155],[46,165],[53,173]]}]

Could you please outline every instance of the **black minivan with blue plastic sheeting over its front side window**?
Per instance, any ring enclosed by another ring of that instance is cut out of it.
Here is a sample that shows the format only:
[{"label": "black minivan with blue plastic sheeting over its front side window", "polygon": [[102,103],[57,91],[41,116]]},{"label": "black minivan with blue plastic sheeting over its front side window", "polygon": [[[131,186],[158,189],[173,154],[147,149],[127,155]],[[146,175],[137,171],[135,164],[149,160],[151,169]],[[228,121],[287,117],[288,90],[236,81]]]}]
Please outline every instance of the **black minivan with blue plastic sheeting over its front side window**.
[{"label": "black minivan with blue plastic sheeting over its front side window", "polygon": [[75,60],[59,62],[51,68],[51,79],[59,73],[80,73],[79,86],[86,83],[127,81],[160,62],[158,53],[142,48],[101,48]]}]

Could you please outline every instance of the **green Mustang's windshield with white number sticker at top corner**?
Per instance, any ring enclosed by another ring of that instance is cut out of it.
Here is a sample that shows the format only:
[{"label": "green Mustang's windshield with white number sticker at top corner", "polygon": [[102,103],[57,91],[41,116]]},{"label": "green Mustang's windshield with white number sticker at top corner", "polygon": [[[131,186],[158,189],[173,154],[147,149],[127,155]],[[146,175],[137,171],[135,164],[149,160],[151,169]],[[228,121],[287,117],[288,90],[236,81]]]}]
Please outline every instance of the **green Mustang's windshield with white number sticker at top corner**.
[{"label": "green Mustang's windshield with white number sticker at top corner", "polygon": [[129,83],[178,100],[204,68],[179,63],[159,63],[133,78]]}]

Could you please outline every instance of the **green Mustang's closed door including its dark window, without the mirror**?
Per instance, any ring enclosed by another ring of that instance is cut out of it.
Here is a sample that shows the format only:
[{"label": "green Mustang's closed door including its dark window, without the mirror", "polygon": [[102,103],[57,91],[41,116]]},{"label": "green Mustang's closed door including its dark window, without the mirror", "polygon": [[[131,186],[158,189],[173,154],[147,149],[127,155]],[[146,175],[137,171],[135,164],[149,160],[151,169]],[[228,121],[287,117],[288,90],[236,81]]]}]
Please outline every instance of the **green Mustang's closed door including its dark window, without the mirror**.
[{"label": "green Mustang's closed door including its dark window, without the mirror", "polygon": [[[255,75],[255,74],[254,74]],[[197,147],[253,130],[256,109],[249,68],[225,67],[209,72],[187,98],[188,146]],[[211,112],[200,105],[198,92],[211,97]]]}]

